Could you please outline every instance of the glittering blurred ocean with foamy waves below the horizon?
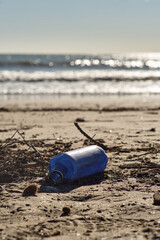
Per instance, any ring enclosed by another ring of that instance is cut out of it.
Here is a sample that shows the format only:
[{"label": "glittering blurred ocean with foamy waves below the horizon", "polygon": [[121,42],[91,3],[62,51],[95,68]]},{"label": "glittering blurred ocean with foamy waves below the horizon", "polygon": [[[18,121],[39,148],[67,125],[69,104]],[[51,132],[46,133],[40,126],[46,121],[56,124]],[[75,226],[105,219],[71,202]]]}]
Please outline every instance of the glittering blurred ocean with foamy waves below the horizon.
[{"label": "glittering blurred ocean with foamy waves below the horizon", "polygon": [[160,53],[0,55],[0,96],[160,94]]}]

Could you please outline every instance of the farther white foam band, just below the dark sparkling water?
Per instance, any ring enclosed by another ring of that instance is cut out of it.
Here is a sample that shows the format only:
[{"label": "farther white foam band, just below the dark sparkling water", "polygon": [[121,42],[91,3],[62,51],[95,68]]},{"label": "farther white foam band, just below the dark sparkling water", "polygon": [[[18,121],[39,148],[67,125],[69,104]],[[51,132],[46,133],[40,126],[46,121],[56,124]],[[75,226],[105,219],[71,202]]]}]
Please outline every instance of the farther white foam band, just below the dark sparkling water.
[{"label": "farther white foam band, just below the dark sparkling water", "polygon": [[77,70],[77,71],[0,71],[0,82],[156,80],[160,71],[153,70]]}]

